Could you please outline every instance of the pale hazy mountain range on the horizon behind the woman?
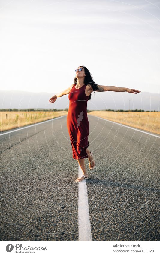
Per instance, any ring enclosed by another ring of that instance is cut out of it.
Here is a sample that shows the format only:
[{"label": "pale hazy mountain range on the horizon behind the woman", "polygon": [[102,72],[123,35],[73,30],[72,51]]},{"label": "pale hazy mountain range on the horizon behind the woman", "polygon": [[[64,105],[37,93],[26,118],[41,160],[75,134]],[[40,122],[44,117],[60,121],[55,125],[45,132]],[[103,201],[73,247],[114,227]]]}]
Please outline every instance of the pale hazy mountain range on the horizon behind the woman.
[{"label": "pale hazy mountain range on the horizon behind the woman", "polygon": [[[0,91],[0,108],[1,109],[66,109],[69,107],[68,95],[57,98],[55,103],[49,103],[49,99],[55,93],[32,93],[17,90]],[[131,94],[127,92],[95,92],[92,93],[91,100],[87,103],[89,110],[102,109],[143,109],[155,110],[160,109],[160,94],[140,92]]]}]

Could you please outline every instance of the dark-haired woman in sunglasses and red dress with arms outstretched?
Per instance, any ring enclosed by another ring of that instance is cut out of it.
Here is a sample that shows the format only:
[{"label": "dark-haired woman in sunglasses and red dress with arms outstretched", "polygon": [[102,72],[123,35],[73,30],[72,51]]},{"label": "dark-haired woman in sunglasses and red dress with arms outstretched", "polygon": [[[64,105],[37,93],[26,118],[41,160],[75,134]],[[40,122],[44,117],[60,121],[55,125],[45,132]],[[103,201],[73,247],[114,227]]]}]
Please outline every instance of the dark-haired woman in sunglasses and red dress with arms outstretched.
[{"label": "dark-haired woman in sunglasses and red dress with arms outstretched", "polygon": [[57,97],[69,94],[67,128],[73,151],[73,159],[78,161],[83,172],[83,175],[75,181],[81,182],[83,179],[88,179],[84,158],[89,160],[89,169],[95,168],[93,154],[88,149],[89,122],[87,117],[87,101],[91,99],[92,92],[115,91],[137,94],[140,91],[124,87],[98,85],[93,81],[92,75],[85,66],[79,66],[75,72],[74,84],[54,95],[50,98],[49,102],[54,103]]}]

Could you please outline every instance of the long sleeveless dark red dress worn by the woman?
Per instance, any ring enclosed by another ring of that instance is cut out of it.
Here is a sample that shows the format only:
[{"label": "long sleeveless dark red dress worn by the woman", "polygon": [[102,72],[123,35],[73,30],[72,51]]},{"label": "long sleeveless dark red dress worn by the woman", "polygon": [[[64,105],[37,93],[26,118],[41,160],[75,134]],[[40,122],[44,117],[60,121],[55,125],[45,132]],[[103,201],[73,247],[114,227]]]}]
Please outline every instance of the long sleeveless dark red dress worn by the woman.
[{"label": "long sleeveless dark red dress worn by the woman", "polygon": [[85,89],[87,84],[76,89],[72,87],[69,98],[67,114],[67,128],[70,136],[73,159],[88,158],[86,148],[89,146],[89,121],[87,117],[87,101]]}]

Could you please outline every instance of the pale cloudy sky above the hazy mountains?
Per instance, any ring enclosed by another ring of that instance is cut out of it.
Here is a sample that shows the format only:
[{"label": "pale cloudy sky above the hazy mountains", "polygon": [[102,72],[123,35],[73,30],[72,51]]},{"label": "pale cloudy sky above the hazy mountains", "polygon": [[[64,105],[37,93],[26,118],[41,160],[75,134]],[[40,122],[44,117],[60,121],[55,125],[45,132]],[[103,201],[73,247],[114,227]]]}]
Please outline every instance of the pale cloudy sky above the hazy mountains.
[{"label": "pale cloudy sky above the hazy mountains", "polygon": [[160,93],[160,0],[1,0],[0,90],[99,85]]}]

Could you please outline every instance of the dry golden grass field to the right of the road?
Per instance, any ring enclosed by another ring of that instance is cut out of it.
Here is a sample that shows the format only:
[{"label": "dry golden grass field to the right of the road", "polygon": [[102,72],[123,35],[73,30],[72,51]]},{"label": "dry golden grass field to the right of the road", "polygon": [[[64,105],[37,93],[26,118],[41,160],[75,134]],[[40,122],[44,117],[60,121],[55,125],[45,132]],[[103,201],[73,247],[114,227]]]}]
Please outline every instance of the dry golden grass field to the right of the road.
[{"label": "dry golden grass field to the right of the road", "polygon": [[123,125],[160,134],[160,112],[92,111],[88,115],[96,115]]}]

